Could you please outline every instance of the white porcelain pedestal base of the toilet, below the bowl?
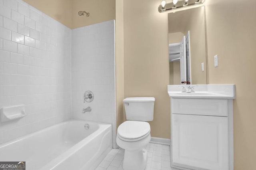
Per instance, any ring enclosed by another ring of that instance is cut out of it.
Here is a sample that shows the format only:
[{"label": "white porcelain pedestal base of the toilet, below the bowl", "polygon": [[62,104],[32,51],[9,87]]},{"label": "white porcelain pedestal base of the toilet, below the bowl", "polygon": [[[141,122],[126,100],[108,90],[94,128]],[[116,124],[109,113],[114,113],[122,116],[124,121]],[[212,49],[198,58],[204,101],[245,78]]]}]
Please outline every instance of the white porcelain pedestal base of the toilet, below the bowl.
[{"label": "white porcelain pedestal base of the toilet, below the bowl", "polygon": [[124,150],[124,170],[144,170],[147,163],[147,150]]}]

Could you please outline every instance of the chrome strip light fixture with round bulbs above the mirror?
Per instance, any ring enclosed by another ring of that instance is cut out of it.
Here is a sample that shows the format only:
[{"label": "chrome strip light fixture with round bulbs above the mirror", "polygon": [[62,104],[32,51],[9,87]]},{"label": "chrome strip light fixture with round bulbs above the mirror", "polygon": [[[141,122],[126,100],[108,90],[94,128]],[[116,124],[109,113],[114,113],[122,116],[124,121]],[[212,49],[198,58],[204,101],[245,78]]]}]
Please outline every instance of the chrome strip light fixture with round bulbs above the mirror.
[{"label": "chrome strip light fixture with round bulbs above the mirror", "polygon": [[166,3],[165,0],[158,6],[159,12],[166,12],[178,8],[185,8],[187,6],[198,5],[204,3],[205,0],[172,0],[172,2]]}]

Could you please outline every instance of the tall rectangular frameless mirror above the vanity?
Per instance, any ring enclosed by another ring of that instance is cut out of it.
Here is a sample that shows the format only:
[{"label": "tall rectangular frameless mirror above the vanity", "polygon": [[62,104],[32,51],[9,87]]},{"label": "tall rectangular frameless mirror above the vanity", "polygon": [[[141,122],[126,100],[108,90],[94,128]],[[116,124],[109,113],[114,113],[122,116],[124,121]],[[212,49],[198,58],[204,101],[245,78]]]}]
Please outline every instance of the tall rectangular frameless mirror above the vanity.
[{"label": "tall rectangular frameless mirror above the vanity", "polygon": [[168,14],[170,85],[206,84],[204,6]]}]

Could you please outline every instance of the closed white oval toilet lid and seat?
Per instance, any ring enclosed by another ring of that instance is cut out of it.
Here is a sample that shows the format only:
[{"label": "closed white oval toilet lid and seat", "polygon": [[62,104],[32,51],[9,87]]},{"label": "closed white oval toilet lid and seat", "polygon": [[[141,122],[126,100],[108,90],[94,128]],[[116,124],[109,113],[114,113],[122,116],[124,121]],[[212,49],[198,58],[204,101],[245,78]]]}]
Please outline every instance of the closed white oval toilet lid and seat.
[{"label": "closed white oval toilet lid and seat", "polygon": [[117,133],[125,139],[137,139],[150,133],[150,125],[141,121],[125,121],[118,127]]}]

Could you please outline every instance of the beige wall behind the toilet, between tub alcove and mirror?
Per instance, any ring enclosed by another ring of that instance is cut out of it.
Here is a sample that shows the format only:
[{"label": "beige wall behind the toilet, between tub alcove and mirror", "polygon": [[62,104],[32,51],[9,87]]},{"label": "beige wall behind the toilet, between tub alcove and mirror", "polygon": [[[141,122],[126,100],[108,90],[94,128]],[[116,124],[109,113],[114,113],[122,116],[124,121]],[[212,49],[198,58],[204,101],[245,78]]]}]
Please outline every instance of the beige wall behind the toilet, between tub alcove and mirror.
[{"label": "beige wall behind the toilet, between tub alcove and mirror", "polygon": [[124,1],[124,97],[155,97],[151,136],[170,138],[167,13],[160,1]]}]

